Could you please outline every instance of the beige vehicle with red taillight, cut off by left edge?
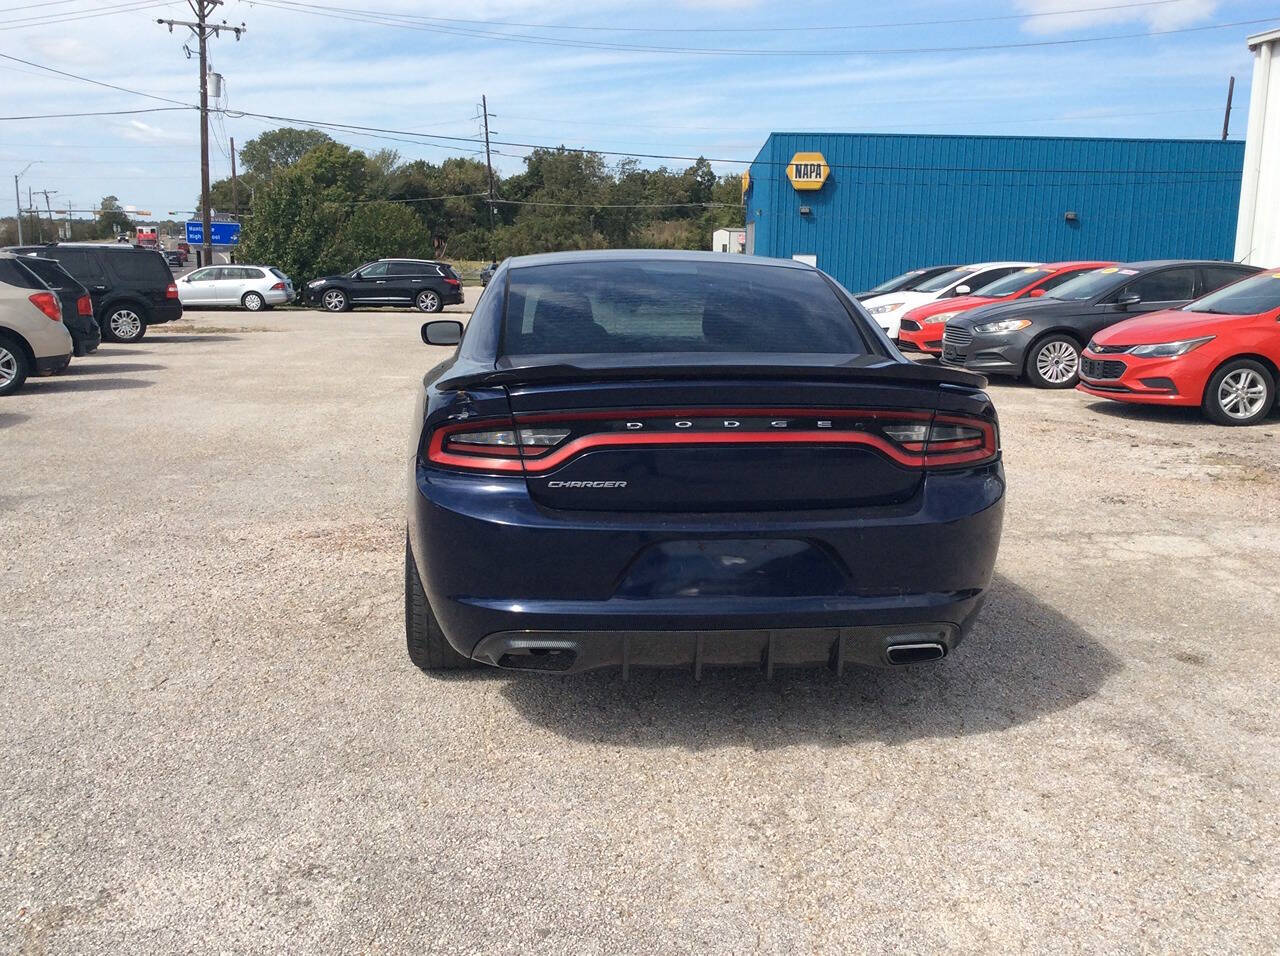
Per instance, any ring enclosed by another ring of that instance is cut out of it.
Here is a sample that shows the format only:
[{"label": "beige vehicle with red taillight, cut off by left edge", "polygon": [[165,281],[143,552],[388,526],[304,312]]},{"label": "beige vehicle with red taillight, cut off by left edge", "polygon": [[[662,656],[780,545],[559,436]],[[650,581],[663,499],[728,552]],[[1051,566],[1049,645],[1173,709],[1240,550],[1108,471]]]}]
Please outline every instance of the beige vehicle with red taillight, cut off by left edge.
[{"label": "beige vehicle with red taillight, cut off by left edge", "polygon": [[32,372],[59,372],[72,361],[72,337],[58,294],[22,260],[0,252],[0,395]]}]

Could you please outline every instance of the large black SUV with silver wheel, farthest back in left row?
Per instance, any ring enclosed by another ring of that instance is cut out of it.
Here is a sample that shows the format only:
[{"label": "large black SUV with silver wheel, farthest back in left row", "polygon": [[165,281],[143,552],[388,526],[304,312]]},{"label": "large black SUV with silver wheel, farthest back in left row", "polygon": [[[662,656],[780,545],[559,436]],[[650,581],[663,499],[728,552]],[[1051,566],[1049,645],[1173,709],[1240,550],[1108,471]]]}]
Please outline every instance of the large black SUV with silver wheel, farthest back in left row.
[{"label": "large black SUV with silver wheel, farthest back in left row", "polygon": [[12,251],[52,259],[87,288],[108,342],[137,342],[148,325],[182,317],[173,273],[155,250],[124,243],[55,242]]}]

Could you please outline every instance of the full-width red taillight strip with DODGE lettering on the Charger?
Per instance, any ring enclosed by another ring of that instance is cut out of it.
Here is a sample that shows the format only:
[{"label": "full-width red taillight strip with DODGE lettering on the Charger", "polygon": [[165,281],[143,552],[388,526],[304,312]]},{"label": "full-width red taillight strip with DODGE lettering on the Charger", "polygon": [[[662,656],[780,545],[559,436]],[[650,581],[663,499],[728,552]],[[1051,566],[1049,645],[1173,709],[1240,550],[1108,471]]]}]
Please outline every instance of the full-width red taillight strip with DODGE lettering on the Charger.
[{"label": "full-width red taillight strip with DODGE lettering on the Charger", "polygon": [[483,472],[544,474],[596,449],[689,445],[859,445],[908,468],[993,461],[995,422],[888,410],[698,408],[568,412],[444,425],[430,433],[433,465]]}]

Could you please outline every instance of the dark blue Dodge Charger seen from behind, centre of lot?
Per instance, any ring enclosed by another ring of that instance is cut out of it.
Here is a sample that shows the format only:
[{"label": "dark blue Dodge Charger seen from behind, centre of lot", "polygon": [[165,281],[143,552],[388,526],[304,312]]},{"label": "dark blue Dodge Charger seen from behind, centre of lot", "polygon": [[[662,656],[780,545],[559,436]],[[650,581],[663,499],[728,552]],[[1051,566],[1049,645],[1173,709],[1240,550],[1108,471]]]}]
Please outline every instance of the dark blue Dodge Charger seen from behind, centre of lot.
[{"label": "dark blue Dodge Charger seen from behind, centre of lot", "polygon": [[404,553],[428,671],[909,664],[991,582],[1005,475],[972,372],[829,276],[696,252],[509,259],[422,380]]}]

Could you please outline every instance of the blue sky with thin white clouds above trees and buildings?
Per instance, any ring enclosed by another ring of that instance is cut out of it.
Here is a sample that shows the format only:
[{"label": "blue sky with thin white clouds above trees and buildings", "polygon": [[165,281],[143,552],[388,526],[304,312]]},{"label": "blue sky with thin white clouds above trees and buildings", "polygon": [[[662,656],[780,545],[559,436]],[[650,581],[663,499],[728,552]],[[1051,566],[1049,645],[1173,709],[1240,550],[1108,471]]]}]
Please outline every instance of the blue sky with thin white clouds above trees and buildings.
[{"label": "blue sky with thin white clouds above trees and buildings", "polygon": [[[183,50],[193,40],[182,28],[169,33],[155,22],[161,17],[189,19],[191,10],[147,0],[0,0],[0,55],[163,97],[0,59],[0,116],[196,102],[197,61]],[[772,131],[1217,138],[1231,74],[1231,137],[1243,138],[1253,60],[1244,41],[1280,27],[1280,5],[227,0],[215,19],[247,27],[239,42],[224,33],[210,44],[227,83],[220,105],[397,131],[326,131],[366,151],[483,159],[484,93],[503,143],[749,161]],[[1061,42],[1114,36],[1124,38]],[[214,179],[229,174],[229,138],[243,143],[278,125],[303,123],[218,116]],[[494,164],[520,171],[527,151],[495,146]],[[200,191],[198,115],[0,120],[0,179],[28,164],[23,206],[29,187],[50,191],[54,209],[90,209],[114,195],[155,218],[182,218]],[[723,173],[742,168],[717,163]],[[14,205],[0,188],[0,214]]]}]

